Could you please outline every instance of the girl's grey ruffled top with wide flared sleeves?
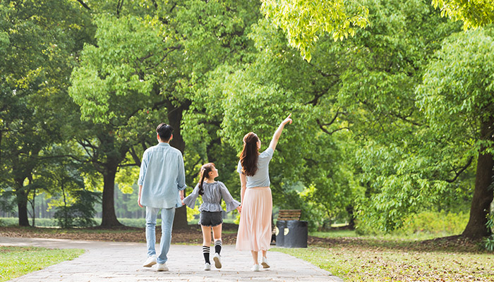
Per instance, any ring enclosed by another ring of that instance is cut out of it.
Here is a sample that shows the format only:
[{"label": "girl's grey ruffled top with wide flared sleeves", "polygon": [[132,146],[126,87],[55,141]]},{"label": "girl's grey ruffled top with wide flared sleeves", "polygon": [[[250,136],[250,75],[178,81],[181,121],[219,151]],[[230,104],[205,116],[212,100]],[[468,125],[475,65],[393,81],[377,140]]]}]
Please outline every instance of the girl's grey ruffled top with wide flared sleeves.
[{"label": "girl's grey ruffled top with wide flared sleeves", "polygon": [[[231,212],[240,206],[240,202],[234,200],[231,197],[230,192],[221,181],[216,181],[215,183],[203,182],[203,204],[199,207],[199,212],[222,212],[221,200],[223,198],[224,202],[227,203],[227,212]],[[191,209],[195,206],[195,200],[199,196],[199,183],[195,185],[194,190],[191,195],[188,195],[183,199],[183,203],[190,207]]]}]

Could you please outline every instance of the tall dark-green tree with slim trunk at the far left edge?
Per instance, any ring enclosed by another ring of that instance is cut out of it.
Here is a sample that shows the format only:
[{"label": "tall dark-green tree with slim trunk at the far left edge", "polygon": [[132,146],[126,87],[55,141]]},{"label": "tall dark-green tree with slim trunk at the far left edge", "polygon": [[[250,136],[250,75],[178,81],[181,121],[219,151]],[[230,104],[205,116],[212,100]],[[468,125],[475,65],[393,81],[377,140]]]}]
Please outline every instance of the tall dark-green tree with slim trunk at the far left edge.
[{"label": "tall dark-green tree with slim trunk at the far left edge", "polygon": [[4,1],[0,14],[0,169],[19,224],[28,226],[25,182],[43,150],[63,139],[67,78],[85,17],[71,1]]}]

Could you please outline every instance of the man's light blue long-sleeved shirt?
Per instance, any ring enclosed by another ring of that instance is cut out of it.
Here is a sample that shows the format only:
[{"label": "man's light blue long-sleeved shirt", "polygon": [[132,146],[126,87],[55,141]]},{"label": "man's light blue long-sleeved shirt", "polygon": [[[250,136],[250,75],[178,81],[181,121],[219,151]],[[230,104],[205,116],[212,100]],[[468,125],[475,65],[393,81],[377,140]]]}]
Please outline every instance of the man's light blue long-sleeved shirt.
[{"label": "man's light blue long-sleeved shirt", "polygon": [[164,142],[147,148],[140,164],[138,185],[143,185],[143,206],[181,207],[179,190],[187,187],[182,153]]}]

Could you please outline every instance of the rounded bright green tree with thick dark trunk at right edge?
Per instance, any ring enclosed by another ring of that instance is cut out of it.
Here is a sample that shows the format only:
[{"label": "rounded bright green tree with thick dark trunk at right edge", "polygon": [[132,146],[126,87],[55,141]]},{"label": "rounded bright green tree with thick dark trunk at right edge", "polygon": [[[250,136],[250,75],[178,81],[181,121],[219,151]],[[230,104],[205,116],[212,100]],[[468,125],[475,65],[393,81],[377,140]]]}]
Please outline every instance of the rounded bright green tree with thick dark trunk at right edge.
[{"label": "rounded bright green tree with thick dark trunk at right edge", "polygon": [[493,35],[490,28],[445,39],[418,88],[418,103],[431,132],[477,159],[470,219],[462,234],[469,238],[490,234],[486,216],[494,197]]}]

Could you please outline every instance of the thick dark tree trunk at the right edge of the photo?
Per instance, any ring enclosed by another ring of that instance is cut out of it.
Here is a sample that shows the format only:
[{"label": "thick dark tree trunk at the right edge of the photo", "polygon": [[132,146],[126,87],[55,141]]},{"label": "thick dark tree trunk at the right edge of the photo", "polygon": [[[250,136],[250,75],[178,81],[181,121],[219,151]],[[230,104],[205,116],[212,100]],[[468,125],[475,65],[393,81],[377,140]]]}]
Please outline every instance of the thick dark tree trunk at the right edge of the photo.
[{"label": "thick dark tree trunk at the right edge of the photo", "polygon": [[[494,122],[482,123],[481,136],[483,139],[493,140]],[[482,147],[481,152],[486,148]],[[471,200],[470,219],[466,224],[462,235],[472,239],[486,237],[490,234],[486,223],[487,214],[490,211],[490,203],[493,202],[493,176],[494,159],[492,154],[478,154],[477,172],[475,178],[474,197]]]}]

